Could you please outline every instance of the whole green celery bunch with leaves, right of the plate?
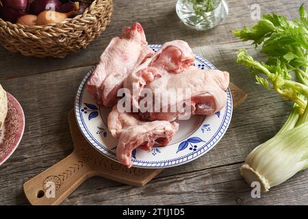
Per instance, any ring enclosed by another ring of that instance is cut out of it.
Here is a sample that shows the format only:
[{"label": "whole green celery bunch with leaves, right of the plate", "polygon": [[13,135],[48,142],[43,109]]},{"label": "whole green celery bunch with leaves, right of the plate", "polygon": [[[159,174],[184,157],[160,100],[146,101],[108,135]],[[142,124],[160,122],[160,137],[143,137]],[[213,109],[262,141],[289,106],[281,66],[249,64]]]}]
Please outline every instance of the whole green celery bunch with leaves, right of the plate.
[{"label": "whole green celery bunch with leaves, right of the plate", "polygon": [[261,46],[261,53],[268,55],[266,62],[257,62],[241,49],[238,64],[250,69],[259,85],[294,102],[277,135],[257,146],[241,167],[244,179],[250,185],[259,181],[262,191],[308,168],[308,13],[304,4],[298,12],[300,17],[292,21],[279,14],[264,14],[253,27],[233,31],[242,40]]}]

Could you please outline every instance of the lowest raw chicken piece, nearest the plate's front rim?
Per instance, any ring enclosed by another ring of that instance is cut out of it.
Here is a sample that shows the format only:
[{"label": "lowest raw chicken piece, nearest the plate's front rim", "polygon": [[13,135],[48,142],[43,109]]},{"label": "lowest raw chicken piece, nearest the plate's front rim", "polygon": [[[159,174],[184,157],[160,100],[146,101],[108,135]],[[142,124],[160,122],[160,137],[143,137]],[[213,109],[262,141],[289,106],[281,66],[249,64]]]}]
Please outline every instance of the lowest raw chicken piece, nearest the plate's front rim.
[{"label": "lowest raw chicken piece, nearest the plate's front rim", "polygon": [[154,144],[166,146],[172,139],[179,125],[175,122],[144,122],[130,113],[120,113],[114,106],[107,119],[108,129],[112,136],[118,138],[116,158],[119,162],[131,167],[131,151],[137,147],[149,151]]}]

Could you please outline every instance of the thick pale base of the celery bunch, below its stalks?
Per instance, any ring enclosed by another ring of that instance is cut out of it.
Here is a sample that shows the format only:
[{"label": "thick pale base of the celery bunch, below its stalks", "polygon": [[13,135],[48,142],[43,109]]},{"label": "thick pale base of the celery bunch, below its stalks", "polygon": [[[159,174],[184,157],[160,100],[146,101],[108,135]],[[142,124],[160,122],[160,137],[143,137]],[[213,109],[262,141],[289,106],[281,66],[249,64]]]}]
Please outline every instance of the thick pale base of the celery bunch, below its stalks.
[{"label": "thick pale base of the celery bunch, below its stalks", "polygon": [[246,158],[241,174],[251,185],[259,181],[267,192],[308,167],[308,123],[284,131],[257,146]]}]

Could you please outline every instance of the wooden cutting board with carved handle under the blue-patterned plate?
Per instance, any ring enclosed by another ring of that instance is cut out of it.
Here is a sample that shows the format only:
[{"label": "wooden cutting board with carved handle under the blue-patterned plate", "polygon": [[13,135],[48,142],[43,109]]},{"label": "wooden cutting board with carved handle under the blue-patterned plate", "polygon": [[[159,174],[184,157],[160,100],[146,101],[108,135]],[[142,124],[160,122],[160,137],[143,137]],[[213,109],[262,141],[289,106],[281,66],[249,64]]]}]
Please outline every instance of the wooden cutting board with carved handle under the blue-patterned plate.
[{"label": "wooden cutting board with carved handle under the blue-patterned plate", "polygon": [[[247,98],[247,95],[233,83],[230,84],[230,89],[233,108],[236,108]],[[142,186],[164,170],[162,168],[128,169],[105,157],[87,142],[79,131],[73,110],[68,114],[68,122],[74,144],[73,153],[25,182],[23,185],[25,196],[32,205],[59,205],[90,177],[101,176],[128,185]]]}]

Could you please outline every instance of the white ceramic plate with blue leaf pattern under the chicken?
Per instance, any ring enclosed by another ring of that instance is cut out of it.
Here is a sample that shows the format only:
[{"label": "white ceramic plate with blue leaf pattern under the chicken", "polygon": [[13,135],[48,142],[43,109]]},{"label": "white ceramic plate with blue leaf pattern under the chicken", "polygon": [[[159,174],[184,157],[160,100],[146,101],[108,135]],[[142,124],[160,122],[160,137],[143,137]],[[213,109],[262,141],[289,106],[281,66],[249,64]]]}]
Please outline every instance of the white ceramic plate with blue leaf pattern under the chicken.
[{"label": "white ceramic plate with blue leaf pattern under the chicken", "polygon": [[[149,45],[157,51],[161,45]],[[203,57],[196,55],[195,66],[201,69],[215,69]],[[79,86],[75,99],[75,116],[84,137],[95,149],[110,159],[116,159],[118,140],[107,130],[107,115],[111,108],[97,106],[94,98],[85,90],[86,81],[94,67],[88,72]],[[132,153],[133,166],[140,168],[167,168],[191,162],[205,155],[224,136],[232,115],[232,96],[227,92],[227,103],[224,109],[212,116],[192,116],[190,120],[179,120],[179,131],[168,146],[155,147],[151,151],[136,149]]]}]

